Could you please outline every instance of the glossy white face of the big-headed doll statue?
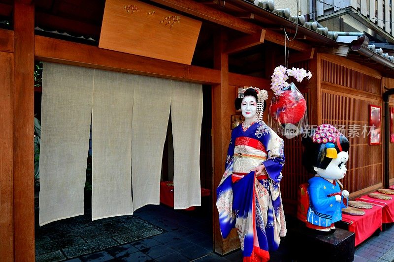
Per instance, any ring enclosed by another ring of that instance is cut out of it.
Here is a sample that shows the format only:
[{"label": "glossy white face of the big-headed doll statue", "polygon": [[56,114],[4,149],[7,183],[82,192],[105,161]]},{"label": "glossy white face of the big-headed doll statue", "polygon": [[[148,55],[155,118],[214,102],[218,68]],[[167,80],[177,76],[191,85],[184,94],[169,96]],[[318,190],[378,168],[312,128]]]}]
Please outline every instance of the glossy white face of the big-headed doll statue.
[{"label": "glossy white face of the big-headed doll statue", "polygon": [[349,160],[348,152],[339,152],[338,157],[331,160],[326,169],[313,167],[316,173],[327,179],[341,179],[345,176],[347,168],[346,162]]}]

